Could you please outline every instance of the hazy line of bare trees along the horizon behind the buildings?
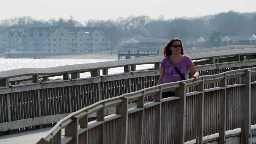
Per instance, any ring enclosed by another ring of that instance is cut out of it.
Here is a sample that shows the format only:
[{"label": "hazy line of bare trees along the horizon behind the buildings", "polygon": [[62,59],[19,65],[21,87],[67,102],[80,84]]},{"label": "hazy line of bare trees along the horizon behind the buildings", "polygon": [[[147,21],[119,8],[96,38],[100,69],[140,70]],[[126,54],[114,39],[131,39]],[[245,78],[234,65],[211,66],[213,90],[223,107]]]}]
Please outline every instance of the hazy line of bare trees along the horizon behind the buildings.
[{"label": "hazy line of bare trees along the horizon behind the buildings", "polygon": [[[90,19],[83,24],[69,19],[51,18],[50,20],[35,20],[30,16],[10,18],[0,21],[0,33],[7,33],[11,28],[63,26],[63,27],[105,27],[110,40],[110,47],[117,46],[119,38],[125,35],[141,34],[150,38],[211,38],[212,34],[227,36],[251,36],[256,34],[256,12],[239,13],[222,12],[216,15],[206,15],[194,18],[173,18],[165,20],[160,15],[156,19],[149,16],[119,17],[116,20]],[[215,32],[215,33],[214,33]]]}]

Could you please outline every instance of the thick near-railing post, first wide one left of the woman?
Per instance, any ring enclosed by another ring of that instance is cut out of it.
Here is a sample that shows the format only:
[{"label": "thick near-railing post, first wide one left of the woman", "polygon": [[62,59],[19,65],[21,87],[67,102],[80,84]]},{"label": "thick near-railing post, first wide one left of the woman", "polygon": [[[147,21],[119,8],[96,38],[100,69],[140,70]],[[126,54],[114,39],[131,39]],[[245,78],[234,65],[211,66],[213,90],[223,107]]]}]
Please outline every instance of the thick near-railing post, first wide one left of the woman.
[{"label": "thick near-railing post, first wide one left of the woman", "polygon": [[117,119],[116,143],[127,144],[128,137],[128,98],[123,97],[123,102],[116,106],[116,114],[122,116]]}]

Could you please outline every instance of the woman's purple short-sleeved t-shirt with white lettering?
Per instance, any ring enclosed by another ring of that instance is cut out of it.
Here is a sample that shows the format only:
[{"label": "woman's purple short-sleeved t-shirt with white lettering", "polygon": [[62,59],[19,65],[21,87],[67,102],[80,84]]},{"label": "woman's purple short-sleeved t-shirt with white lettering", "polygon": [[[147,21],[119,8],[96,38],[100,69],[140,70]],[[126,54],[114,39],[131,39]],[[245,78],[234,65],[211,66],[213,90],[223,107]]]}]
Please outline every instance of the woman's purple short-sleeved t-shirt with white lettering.
[{"label": "woman's purple short-sleeved t-shirt with white lettering", "polygon": [[[194,63],[188,56],[184,56],[184,58],[176,63],[176,66],[186,79],[187,73],[188,73],[188,68],[191,66],[194,66]],[[176,82],[182,80],[180,75],[176,72],[174,69],[172,63],[168,60],[168,58],[164,58],[161,62],[161,67],[165,68],[165,75],[162,83],[171,83],[171,82]]]}]

